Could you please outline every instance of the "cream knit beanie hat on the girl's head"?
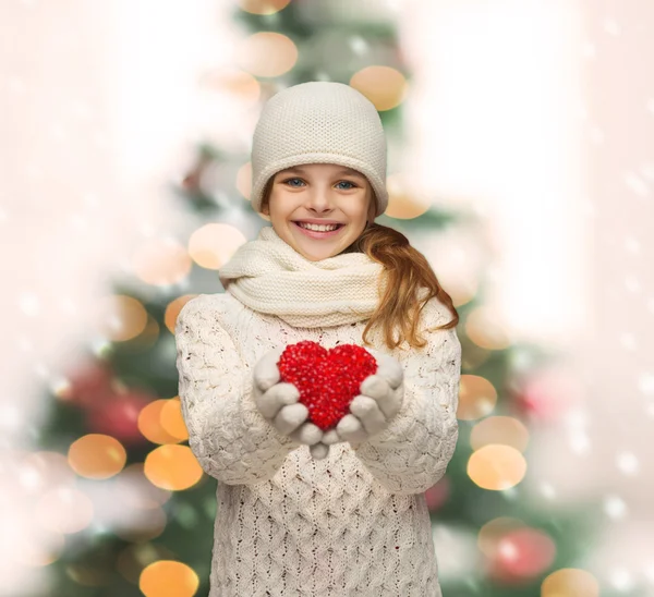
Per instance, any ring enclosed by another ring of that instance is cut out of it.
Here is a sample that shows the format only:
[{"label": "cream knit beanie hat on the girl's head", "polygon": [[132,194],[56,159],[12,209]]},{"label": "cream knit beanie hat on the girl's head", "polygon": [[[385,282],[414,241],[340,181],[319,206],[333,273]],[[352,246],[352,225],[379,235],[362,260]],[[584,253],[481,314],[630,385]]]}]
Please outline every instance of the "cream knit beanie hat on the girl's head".
[{"label": "cream knit beanie hat on the girl's head", "polygon": [[261,211],[268,179],[303,163],[353,168],[375,191],[375,217],[388,206],[382,119],[370,99],[344,83],[311,81],[268,99],[254,131],[251,161],[255,211]]}]

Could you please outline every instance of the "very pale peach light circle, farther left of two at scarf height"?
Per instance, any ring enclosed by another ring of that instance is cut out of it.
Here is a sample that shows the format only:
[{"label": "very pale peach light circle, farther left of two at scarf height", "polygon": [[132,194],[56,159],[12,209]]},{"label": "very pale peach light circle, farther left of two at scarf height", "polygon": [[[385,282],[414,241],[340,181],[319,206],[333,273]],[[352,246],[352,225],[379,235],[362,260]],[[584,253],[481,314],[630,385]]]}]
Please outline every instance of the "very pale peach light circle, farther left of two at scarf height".
[{"label": "very pale peach light circle, farther left of two at scarf height", "polygon": [[147,284],[181,282],[191,271],[191,257],[172,239],[150,239],[141,244],[132,258],[134,273]]}]

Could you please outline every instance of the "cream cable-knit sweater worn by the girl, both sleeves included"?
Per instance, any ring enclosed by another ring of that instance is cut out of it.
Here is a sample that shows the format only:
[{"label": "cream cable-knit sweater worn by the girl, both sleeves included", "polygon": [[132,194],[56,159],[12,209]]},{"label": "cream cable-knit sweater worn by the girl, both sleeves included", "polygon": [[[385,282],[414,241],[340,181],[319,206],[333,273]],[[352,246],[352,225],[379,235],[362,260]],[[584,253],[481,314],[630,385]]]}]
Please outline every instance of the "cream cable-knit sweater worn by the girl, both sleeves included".
[{"label": "cream cable-knit sweater worn by the girl, both sleeves included", "polygon": [[[422,327],[451,319],[436,300]],[[377,350],[404,367],[404,403],[390,427],[314,460],[277,432],[252,397],[252,368],[281,344],[362,342],[365,321],[298,328],[229,292],[201,294],[175,330],[189,443],[218,479],[209,597],[439,597],[424,491],[458,437],[461,345],[453,329],[424,332],[422,350]],[[407,344],[404,343],[405,348]],[[437,547],[437,546],[436,546]]]}]

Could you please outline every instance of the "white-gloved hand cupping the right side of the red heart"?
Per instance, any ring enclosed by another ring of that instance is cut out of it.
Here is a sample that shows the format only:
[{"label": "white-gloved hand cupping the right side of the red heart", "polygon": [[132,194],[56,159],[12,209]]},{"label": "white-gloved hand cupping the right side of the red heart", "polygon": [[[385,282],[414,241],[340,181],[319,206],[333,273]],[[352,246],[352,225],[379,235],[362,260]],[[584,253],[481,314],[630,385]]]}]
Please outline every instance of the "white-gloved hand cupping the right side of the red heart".
[{"label": "white-gloved hand cupping the right side of the red heart", "polygon": [[361,393],[350,403],[350,413],[336,426],[336,434],[341,441],[359,443],[379,434],[402,407],[402,366],[388,354],[372,349],[368,352],[377,361],[377,373],[361,382]]}]

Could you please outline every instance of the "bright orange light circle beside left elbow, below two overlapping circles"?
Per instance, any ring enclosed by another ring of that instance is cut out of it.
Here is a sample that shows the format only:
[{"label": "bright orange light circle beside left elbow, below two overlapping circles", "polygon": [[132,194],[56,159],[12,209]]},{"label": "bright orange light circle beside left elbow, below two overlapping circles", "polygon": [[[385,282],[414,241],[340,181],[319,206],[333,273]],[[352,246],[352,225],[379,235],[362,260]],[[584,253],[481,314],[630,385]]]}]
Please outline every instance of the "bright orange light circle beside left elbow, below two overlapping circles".
[{"label": "bright orange light circle beside left elbow, below two overlapping circles", "polygon": [[202,475],[203,470],[187,446],[160,446],[145,459],[145,476],[161,489],[189,489],[199,482]]}]

